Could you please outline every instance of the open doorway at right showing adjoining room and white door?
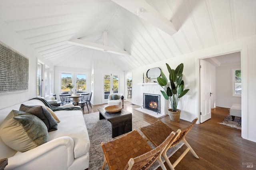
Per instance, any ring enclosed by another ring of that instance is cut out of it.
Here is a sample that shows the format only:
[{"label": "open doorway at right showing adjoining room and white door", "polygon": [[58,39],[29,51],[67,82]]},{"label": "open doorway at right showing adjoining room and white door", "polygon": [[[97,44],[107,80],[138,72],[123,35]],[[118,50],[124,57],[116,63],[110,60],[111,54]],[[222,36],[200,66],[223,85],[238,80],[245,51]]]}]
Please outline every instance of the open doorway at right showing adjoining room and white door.
[{"label": "open doorway at right showing adjoining room and white door", "polygon": [[[200,123],[210,119],[211,110],[215,107],[231,108],[234,103],[240,105],[242,103],[242,82],[236,82],[234,72],[234,70],[241,71],[240,51],[200,59],[200,67],[201,61],[206,63],[208,67],[200,68]],[[202,101],[202,99],[207,100]]]}]

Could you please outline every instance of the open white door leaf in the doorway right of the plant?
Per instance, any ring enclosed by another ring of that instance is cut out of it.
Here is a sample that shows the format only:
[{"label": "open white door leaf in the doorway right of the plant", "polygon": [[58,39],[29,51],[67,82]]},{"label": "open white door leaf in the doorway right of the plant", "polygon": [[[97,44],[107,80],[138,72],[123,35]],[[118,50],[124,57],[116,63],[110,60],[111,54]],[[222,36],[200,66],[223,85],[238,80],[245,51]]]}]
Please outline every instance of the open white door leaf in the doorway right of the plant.
[{"label": "open white door leaf in the doorway right of the plant", "polygon": [[211,119],[212,116],[211,85],[211,65],[204,60],[200,60],[200,123]]}]

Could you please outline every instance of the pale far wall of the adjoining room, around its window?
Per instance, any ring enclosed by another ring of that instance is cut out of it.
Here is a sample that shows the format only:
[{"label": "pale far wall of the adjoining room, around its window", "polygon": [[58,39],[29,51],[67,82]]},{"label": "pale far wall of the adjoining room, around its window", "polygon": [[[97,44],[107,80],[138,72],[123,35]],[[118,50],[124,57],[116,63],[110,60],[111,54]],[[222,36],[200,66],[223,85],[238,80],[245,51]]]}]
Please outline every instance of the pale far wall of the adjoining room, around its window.
[{"label": "pale far wall of the adjoining room, around its window", "polygon": [[241,103],[241,97],[232,96],[232,69],[240,67],[229,65],[216,68],[216,106],[230,108],[233,103]]}]

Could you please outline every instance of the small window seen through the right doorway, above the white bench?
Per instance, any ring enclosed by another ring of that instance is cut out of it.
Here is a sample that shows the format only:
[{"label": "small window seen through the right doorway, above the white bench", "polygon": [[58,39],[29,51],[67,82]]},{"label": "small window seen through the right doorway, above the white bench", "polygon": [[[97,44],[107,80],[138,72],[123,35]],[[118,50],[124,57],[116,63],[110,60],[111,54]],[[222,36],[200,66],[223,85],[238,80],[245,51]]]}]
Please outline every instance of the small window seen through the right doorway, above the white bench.
[{"label": "small window seen through the right doorway, above the white bench", "polygon": [[242,79],[241,79],[241,69],[236,68],[233,69],[232,71],[232,91],[233,91],[233,96],[241,96],[242,94]]}]

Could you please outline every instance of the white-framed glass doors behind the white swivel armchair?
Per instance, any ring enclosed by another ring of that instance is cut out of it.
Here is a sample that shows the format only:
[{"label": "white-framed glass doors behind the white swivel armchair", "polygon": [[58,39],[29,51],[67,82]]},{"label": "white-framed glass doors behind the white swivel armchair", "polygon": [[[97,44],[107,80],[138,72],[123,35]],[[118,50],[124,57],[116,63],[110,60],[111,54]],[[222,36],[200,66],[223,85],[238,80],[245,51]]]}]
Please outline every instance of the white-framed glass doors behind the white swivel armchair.
[{"label": "white-framed glass doors behind the white swivel armchair", "polygon": [[103,76],[103,103],[108,103],[108,96],[119,91],[119,76],[117,74],[104,74]]}]

